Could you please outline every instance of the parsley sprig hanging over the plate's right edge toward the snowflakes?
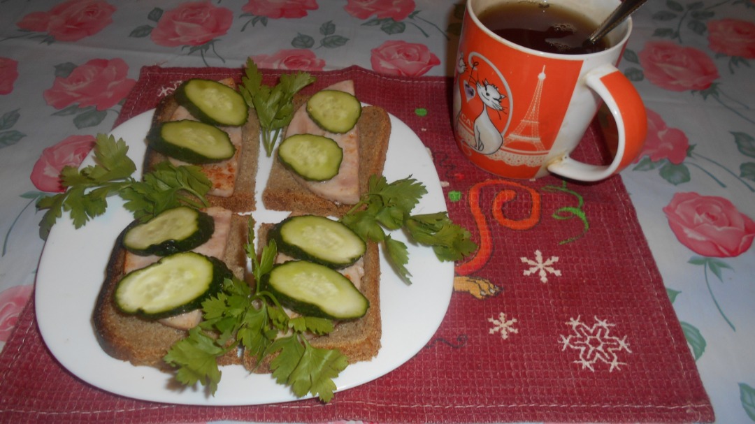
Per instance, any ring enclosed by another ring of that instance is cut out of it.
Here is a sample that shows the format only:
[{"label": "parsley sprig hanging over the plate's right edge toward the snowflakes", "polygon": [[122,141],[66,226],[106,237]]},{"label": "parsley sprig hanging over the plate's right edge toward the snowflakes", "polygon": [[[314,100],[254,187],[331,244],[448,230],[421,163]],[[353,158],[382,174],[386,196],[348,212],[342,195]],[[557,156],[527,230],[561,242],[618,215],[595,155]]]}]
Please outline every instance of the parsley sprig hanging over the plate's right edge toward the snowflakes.
[{"label": "parsley sprig hanging over the plate's right edge toward the snowflakes", "polygon": [[451,222],[446,212],[411,214],[426,194],[424,185],[411,176],[388,183],[373,175],[368,192],[341,218],[363,240],[383,244],[388,262],[406,284],[411,284],[408,247],[390,235],[392,230],[402,229],[411,241],[432,247],[443,261],[461,260],[477,249],[470,232]]}]

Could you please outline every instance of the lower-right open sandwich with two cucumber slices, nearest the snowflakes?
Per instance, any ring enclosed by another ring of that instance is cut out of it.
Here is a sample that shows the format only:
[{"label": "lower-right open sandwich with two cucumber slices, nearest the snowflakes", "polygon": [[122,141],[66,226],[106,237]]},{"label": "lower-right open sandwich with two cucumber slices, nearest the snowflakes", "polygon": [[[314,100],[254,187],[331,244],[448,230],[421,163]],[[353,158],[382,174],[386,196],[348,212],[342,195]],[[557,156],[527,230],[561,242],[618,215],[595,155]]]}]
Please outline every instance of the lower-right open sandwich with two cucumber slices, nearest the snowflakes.
[{"label": "lower-right open sandwich with two cucumber slices, nearest the snowflakes", "polygon": [[[259,281],[261,288],[276,293],[290,317],[334,321],[334,330],[308,335],[309,343],[337,349],[350,364],[377,355],[382,333],[377,244],[319,215],[292,215],[263,224],[257,234],[260,246],[272,240],[277,247],[275,265]],[[254,373],[267,373],[272,359],[245,352],[243,362]]]}]

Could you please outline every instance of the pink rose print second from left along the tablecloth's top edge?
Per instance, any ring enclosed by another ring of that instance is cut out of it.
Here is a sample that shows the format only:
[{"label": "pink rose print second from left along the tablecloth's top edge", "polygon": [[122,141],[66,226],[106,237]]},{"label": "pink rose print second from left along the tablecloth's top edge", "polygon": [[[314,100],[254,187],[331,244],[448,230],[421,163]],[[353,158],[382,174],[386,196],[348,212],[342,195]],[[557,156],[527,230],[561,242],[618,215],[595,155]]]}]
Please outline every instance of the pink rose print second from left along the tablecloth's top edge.
[{"label": "pink rose print second from left along the tablecloth's top edge", "polygon": [[204,45],[225,35],[233,22],[233,12],[209,2],[183,3],[165,12],[150,33],[157,45],[177,47]]}]

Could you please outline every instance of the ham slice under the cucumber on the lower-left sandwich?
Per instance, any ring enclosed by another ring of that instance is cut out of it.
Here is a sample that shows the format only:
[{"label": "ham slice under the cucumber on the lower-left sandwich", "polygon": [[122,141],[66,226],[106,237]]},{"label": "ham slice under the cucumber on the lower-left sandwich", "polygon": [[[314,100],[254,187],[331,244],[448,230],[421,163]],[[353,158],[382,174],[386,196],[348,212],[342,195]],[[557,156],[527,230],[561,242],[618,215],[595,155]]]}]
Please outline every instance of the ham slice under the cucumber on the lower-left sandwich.
[{"label": "ham slice under the cucumber on the lower-left sandwich", "polygon": [[[212,236],[208,241],[205,241],[204,244],[196,247],[193,251],[196,253],[202,253],[208,257],[222,258],[226,253],[226,244],[231,228],[231,217],[233,216],[233,212],[223,209],[222,207],[208,207],[204,211],[214,220],[215,231],[212,233]],[[127,251],[123,266],[124,274],[134,271],[134,269],[142,269],[145,266],[156,263],[159,259],[160,257],[155,255],[143,257]],[[202,321],[202,311],[200,309],[195,309],[193,311],[184,312],[180,315],[174,315],[159,320],[161,324],[179,330],[189,330],[190,328],[196,327],[200,321]]]}]

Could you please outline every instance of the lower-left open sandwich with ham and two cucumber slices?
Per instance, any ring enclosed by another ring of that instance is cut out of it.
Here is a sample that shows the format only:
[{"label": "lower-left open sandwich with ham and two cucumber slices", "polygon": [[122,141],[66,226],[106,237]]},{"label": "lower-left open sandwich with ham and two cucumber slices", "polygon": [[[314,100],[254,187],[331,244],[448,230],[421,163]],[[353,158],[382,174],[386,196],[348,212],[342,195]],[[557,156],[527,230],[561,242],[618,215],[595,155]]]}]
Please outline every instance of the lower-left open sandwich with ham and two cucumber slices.
[{"label": "lower-left open sandwich with ham and two cucumber slices", "polygon": [[[113,358],[168,369],[165,355],[202,321],[226,278],[245,278],[247,218],[221,207],[176,207],[134,221],[116,240],[94,306],[97,340]],[[224,355],[223,364],[239,363]]]}]

